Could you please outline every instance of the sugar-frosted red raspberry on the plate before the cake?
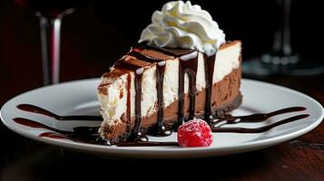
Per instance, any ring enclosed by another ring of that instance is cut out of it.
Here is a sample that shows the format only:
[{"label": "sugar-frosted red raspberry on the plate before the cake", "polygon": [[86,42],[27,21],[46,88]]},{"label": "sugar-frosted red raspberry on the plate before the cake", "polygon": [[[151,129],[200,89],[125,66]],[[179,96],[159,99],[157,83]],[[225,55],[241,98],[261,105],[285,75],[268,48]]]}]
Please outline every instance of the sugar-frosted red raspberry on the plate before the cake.
[{"label": "sugar-frosted red raspberry on the plate before the cake", "polygon": [[202,119],[193,119],[178,129],[181,147],[209,147],[212,143],[211,127]]}]

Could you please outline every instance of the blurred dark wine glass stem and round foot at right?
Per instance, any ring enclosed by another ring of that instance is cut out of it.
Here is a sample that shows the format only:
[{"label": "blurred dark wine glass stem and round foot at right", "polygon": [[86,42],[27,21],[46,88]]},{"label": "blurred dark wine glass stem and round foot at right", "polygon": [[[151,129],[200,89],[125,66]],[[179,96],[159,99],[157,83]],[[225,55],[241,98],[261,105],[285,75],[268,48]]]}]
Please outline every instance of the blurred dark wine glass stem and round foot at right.
[{"label": "blurred dark wine glass stem and round foot at right", "polygon": [[280,8],[280,19],[274,33],[272,50],[255,59],[244,61],[243,74],[260,78],[275,74],[305,76],[324,73],[323,64],[305,61],[291,49],[291,0],[277,0],[277,6]]}]

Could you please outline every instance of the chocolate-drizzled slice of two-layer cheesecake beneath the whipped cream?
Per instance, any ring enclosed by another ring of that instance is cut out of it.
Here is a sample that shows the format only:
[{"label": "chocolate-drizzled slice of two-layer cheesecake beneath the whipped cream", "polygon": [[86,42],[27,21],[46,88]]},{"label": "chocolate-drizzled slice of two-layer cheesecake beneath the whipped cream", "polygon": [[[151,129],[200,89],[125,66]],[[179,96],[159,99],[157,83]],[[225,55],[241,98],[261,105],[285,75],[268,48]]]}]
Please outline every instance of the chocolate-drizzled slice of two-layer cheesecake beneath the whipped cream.
[{"label": "chocolate-drizzled slice of two-layer cheesecake beneath the whipped cream", "polygon": [[194,117],[209,121],[240,106],[240,83],[240,41],[223,43],[212,56],[139,44],[102,76],[100,133],[116,143],[147,131],[166,134]]}]

